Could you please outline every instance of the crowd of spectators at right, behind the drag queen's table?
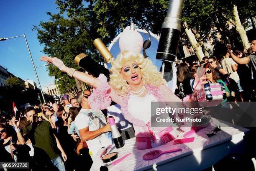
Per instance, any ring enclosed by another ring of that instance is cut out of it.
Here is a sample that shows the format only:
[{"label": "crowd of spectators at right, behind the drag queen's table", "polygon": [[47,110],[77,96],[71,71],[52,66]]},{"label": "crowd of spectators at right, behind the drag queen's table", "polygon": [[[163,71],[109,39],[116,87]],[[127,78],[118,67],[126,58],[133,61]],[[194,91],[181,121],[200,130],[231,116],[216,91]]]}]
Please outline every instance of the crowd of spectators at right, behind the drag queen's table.
[{"label": "crowd of spectators at right, behind the drag queen's table", "polygon": [[[195,74],[197,68],[205,67],[207,64],[212,74],[217,74],[227,85],[230,91],[229,102],[249,102],[255,101],[255,56],[256,40],[251,42],[248,51],[227,51],[225,56],[203,57],[202,61],[193,61],[178,64],[177,87],[175,94],[181,99],[194,92]],[[213,68],[213,70],[212,70]],[[206,73],[206,76],[209,73]]]}]

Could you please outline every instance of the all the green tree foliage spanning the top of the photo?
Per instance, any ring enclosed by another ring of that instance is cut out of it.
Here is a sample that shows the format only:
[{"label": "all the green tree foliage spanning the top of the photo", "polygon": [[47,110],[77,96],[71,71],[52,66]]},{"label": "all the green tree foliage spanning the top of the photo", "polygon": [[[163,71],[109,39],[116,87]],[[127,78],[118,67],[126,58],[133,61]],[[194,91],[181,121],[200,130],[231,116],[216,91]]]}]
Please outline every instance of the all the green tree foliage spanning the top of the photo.
[{"label": "all the green tree foliage spanning the top of the photo", "polygon": [[[108,45],[131,21],[148,28],[155,34],[161,33],[169,0],[56,0],[60,14],[51,14],[50,21],[41,21],[33,30],[38,33],[44,53],[56,56],[69,67],[77,68],[74,56],[80,53],[90,55],[95,61],[103,61],[93,46],[95,38],[101,38]],[[227,21],[233,19],[233,4],[238,5],[241,20],[255,15],[253,0],[184,0],[182,23],[196,31],[198,42],[215,38],[217,32],[223,41],[239,42],[235,28],[228,29]],[[67,18],[62,15],[67,14]],[[214,28],[217,28],[214,29]],[[189,44],[182,28],[181,42]],[[49,75],[64,77],[74,86],[74,80],[54,66],[49,66]],[[61,92],[66,91],[61,84]],[[67,84],[66,83],[66,84]],[[68,84],[68,85],[69,85]]]}]

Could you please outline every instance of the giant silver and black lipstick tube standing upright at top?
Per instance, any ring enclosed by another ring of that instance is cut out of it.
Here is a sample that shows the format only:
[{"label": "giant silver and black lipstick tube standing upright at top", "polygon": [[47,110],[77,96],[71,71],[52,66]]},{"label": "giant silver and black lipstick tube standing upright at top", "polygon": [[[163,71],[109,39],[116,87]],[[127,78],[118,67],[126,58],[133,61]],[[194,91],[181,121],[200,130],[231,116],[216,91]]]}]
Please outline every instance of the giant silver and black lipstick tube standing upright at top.
[{"label": "giant silver and black lipstick tube standing upright at top", "polygon": [[167,15],[162,24],[156,59],[174,61],[181,31],[183,0],[170,0]]}]

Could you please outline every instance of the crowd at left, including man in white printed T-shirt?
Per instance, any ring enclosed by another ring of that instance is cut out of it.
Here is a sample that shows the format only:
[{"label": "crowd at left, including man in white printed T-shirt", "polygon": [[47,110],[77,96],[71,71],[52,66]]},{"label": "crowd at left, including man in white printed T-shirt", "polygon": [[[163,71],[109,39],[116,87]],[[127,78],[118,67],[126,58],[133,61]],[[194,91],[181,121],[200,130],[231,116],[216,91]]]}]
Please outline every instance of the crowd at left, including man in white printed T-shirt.
[{"label": "crowd at left, including man in white printed T-shirt", "polygon": [[64,95],[59,105],[28,105],[18,120],[1,116],[1,161],[26,161],[36,171],[89,170],[97,151],[113,143],[107,117],[90,109],[89,96],[84,90],[70,100]]}]

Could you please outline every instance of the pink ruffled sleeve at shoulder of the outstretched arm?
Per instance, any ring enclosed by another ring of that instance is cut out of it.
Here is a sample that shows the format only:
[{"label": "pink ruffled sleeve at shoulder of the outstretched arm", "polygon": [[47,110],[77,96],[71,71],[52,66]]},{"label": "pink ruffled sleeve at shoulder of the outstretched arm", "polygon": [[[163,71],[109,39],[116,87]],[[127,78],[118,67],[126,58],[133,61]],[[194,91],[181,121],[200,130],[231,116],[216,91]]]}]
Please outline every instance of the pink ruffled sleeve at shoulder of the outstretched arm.
[{"label": "pink ruffled sleeve at shoulder of the outstretched arm", "polygon": [[103,110],[110,106],[110,86],[108,84],[107,77],[104,74],[100,74],[97,78],[100,82],[99,87],[93,89],[93,93],[90,95],[89,103],[90,107],[94,110]]}]

